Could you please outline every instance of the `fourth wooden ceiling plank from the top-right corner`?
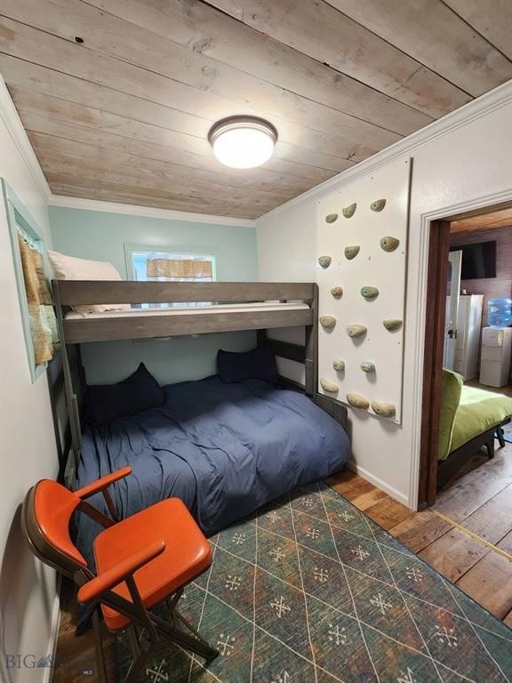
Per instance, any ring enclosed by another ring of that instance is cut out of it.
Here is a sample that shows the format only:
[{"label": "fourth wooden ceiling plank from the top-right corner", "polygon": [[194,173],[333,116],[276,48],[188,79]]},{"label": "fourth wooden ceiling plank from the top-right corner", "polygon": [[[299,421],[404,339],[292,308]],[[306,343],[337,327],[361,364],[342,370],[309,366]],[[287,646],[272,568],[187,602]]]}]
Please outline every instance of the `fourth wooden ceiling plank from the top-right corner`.
[{"label": "fourth wooden ceiling plank from the top-right corner", "polygon": [[350,116],[408,135],[433,120],[197,0],[86,0],[204,57]]}]

